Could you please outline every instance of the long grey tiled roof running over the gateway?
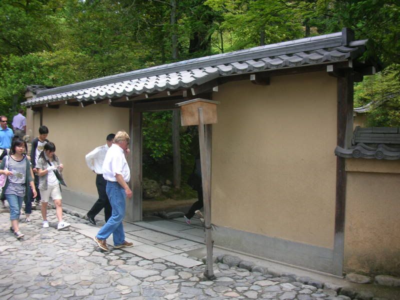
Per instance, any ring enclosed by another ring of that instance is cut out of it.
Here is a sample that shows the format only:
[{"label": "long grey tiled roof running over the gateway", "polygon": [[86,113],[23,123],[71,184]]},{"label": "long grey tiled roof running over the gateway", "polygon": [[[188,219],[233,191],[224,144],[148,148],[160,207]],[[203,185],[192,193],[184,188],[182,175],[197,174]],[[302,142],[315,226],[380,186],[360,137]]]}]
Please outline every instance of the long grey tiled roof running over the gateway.
[{"label": "long grey tiled roof running over the gateway", "polygon": [[23,102],[25,106],[76,99],[103,98],[175,90],[200,85],[221,76],[358,57],[366,40],[349,41],[347,31],[274,43],[106,76],[46,90]]}]

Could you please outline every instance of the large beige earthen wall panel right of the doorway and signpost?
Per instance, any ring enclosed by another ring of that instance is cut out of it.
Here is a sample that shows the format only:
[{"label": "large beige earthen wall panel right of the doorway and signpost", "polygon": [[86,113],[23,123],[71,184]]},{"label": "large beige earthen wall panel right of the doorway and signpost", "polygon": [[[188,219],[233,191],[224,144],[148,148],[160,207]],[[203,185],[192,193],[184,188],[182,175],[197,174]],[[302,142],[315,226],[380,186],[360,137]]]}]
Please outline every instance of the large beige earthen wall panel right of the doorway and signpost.
[{"label": "large beige earthen wall panel right of the doorway and signpost", "polygon": [[212,222],[332,248],[336,79],[326,72],[225,83],[213,93]]}]

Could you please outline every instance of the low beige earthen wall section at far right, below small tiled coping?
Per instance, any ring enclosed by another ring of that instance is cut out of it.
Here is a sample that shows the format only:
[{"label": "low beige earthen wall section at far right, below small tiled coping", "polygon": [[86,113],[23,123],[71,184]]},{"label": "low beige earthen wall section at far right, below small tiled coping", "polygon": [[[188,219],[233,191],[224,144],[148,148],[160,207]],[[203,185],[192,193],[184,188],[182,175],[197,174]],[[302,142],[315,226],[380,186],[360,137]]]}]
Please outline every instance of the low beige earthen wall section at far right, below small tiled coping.
[{"label": "low beige earthen wall section at far right, below small tiled coping", "polygon": [[400,276],[400,161],[346,159],[344,271]]}]

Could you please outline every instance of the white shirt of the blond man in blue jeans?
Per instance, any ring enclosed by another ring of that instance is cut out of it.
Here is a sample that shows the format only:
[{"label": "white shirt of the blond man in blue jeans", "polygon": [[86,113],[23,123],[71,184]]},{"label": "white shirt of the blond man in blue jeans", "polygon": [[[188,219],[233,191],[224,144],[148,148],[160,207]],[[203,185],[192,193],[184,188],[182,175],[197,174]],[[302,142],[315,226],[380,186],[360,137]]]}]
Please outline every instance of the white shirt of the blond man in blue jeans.
[{"label": "white shirt of the blond man in blue jeans", "polygon": [[130,170],[123,149],[117,144],[112,144],[105,154],[102,174],[108,181],[116,181],[115,174],[122,175],[125,182],[130,180]]}]

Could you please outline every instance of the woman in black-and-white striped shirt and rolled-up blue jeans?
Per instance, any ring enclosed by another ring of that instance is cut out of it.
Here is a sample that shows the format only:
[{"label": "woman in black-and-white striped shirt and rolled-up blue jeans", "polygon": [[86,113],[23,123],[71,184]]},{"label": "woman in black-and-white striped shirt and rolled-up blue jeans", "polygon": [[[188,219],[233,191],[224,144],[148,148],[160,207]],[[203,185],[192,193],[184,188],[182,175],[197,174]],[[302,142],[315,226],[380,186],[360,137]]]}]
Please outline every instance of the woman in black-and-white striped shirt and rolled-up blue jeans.
[{"label": "woman in black-and-white striped shirt and rolled-up blue jeans", "polygon": [[[12,140],[10,155],[6,156],[0,164],[0,174],[7,175],[2,193],[9,205],[9,215],[11,228],[16,238],[21,238],[24,234],[19,231],[18,219],[21,211],[22,201],[27,195],[30,185],[33,197],[36,196],[33,178],[30,171],[30,162],[23,155],[25,145],[23,140],[15,138]],[[7,167],[5,168],[5,165]]]}]

